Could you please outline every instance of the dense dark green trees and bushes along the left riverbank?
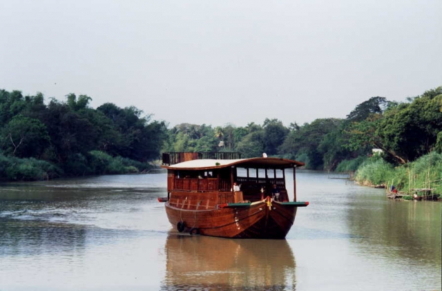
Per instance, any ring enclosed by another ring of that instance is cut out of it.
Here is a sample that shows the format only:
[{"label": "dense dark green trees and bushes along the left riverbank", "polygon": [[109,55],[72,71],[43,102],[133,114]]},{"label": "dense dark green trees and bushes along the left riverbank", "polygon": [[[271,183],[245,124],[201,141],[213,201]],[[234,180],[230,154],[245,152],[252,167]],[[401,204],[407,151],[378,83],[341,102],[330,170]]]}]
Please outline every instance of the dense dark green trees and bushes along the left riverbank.
[{"label": "dense dark green trees and bushes along the left riverbank", "polygon": [[160,157],[164,122],[112,103],[95,110],[90,100],[68,94],[46,105],[41,93],[0,90],[0,178],[138,172]]}]

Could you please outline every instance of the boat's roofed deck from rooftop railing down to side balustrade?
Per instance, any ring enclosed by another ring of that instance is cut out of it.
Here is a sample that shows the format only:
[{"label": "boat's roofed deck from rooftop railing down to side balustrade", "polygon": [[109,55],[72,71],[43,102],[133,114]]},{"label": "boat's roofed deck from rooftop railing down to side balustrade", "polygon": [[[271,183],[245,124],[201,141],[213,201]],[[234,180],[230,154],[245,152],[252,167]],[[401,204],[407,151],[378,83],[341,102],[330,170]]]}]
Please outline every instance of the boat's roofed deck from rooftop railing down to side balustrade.
[{"label": "boat's roofed deck from rooftop railing down to side balustrade", "polygon": [[163,157],[162,168],[168,170],[168,192],[230,192],[233,182],[236,182],[242,185],[244,198],[260,197],[262,192],[270,192],[273,184],[285,190],[285,169],[304,165],[299,161],[274,157],[231,159],[240,157],[240,154],[222,152],[172,153],[163,154]]}]

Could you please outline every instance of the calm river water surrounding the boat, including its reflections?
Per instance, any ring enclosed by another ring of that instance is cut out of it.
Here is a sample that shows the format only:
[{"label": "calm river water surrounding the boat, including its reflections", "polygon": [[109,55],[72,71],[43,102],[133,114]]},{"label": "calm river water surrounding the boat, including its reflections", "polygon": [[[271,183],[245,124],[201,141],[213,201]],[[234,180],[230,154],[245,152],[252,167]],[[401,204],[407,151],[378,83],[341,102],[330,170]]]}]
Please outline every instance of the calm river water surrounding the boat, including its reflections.
[{"label": "calm river water surrounding the boat, including its reflections", "polygon": [[441,203],[297,174],[285,240],[179,234],[164,172],[1,183],[0,291],[441,290]]}]

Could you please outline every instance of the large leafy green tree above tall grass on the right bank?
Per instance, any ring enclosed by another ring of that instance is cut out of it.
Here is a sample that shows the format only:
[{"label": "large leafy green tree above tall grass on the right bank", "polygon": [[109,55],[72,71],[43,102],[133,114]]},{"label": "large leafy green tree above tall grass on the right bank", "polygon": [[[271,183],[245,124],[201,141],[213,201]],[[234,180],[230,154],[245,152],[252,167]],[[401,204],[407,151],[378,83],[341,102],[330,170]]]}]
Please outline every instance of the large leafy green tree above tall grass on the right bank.
[{"label": "large leafy green tree above tall grass on the right bank", "polygon": [[408,100],[410,103],[385,101],[384,112],[371,112],[365,119],[353,121],[347,147],[381,148],[387,161],[402,164],[430,152],[442,129],[442,87]]}]

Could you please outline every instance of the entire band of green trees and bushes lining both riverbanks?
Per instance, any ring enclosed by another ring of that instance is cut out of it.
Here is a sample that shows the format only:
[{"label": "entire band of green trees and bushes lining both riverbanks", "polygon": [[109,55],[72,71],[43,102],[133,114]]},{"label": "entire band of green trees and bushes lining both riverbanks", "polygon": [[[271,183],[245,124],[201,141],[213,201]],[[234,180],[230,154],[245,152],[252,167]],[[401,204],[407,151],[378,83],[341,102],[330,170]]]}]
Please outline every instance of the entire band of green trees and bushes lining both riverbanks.
[{"label": "entire band of green trees and bushes lining both riverbanks", "polygon": [[[181,123],[168,128],[135,107],[68,94],[66,101],[0,90],[0,177],[50,179],[141,172],[161,152],[241,152],[297,159],[314,170],[356,171],[364,185],[441,193],[442,87],[398,103],[371,97],[345,119],[284,126],[278,119],[237,127]],[[381,150],[374,155],[372,150]]]}]

